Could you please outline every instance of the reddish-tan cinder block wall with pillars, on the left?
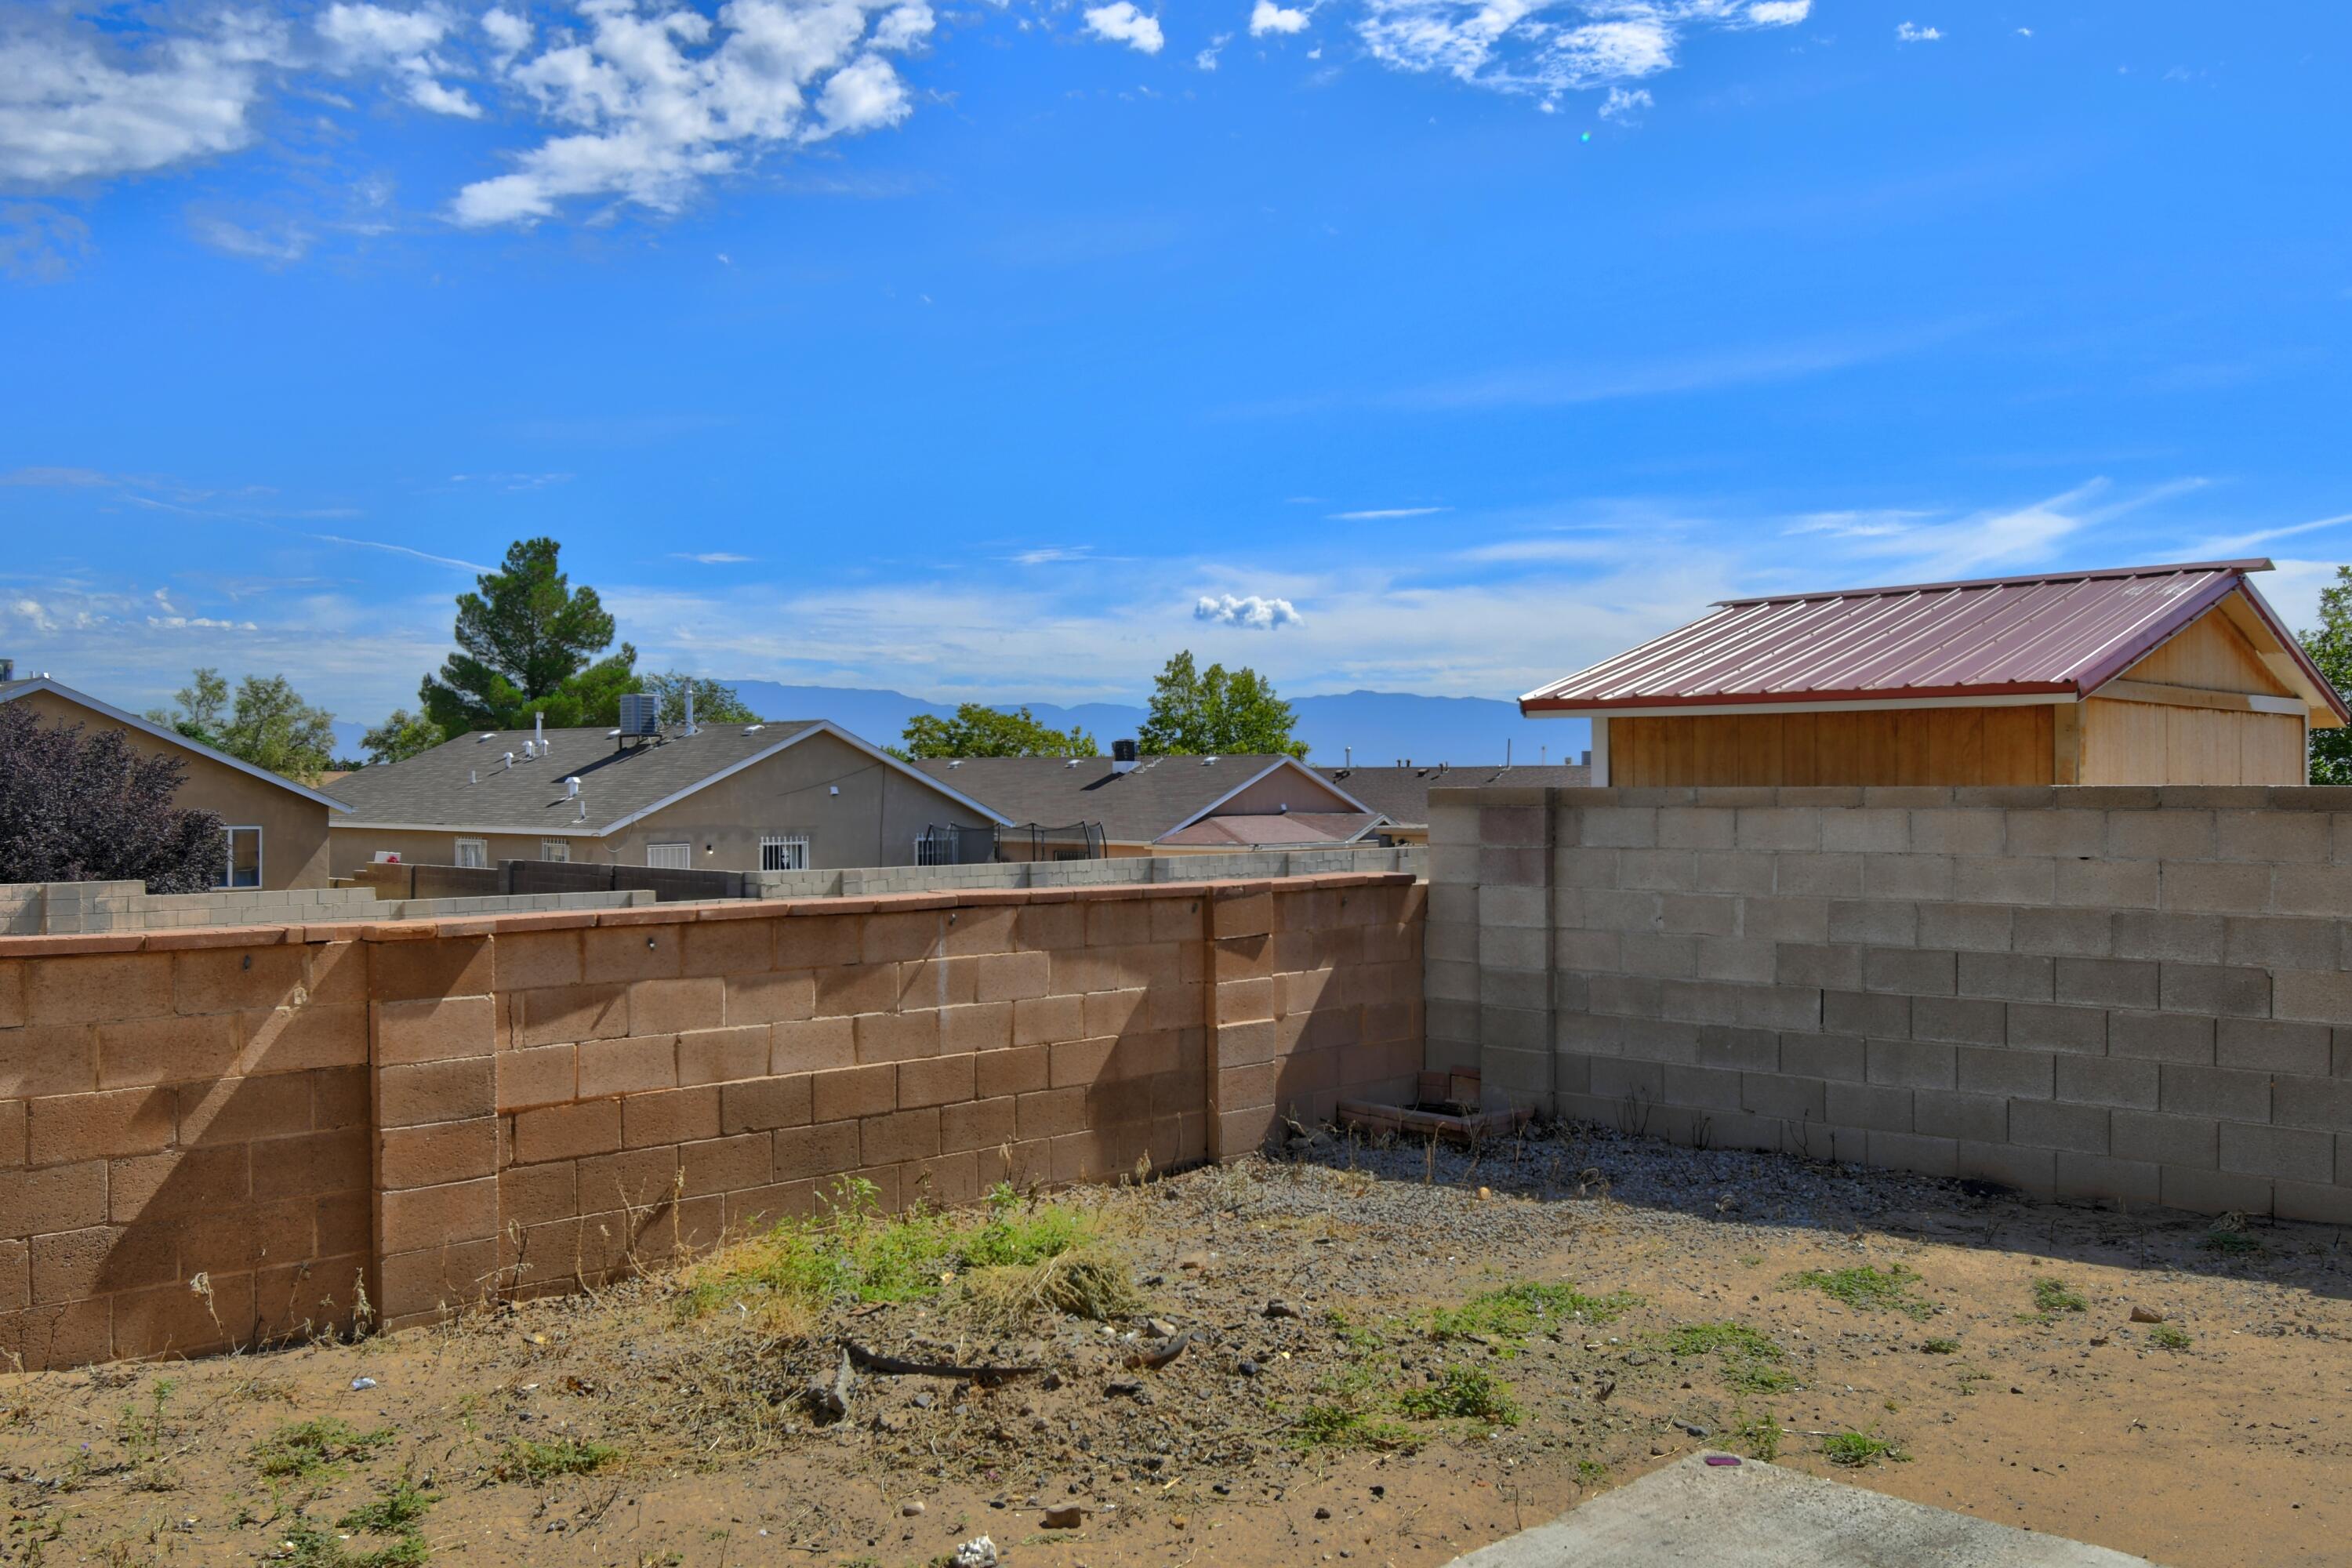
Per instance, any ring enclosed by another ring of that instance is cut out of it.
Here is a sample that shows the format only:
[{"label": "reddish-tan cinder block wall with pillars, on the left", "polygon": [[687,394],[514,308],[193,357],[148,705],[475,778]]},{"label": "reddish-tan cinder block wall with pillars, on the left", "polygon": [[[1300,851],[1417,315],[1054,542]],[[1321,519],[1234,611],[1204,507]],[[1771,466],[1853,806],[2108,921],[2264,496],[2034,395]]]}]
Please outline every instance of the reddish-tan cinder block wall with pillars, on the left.
[{"label": "reddish-tan cinder block wall with pillars, on the left", "polygon": [[[1421,1060],[1409,875],[0,938],[0,1349],[562,1291],[1235,1157]],[[198,1288],[202,1281],[202,1288]]]}]

